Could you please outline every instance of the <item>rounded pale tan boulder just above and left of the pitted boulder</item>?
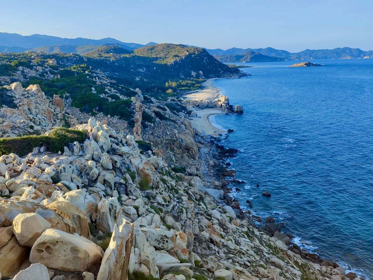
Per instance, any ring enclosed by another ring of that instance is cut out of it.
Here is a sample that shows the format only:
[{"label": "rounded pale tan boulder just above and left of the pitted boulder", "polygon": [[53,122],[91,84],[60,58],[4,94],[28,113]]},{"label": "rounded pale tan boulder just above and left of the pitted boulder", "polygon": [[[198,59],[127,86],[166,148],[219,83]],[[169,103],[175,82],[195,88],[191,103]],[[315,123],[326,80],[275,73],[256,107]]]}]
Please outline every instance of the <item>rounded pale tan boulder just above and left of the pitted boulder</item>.
[{"label": "rounded pale tan boulder just above and left of the pitted boulder", "polygon": [[37,213],[18,214],[13,220],[13,232],[18,243],[31,247],[50,223]]}]

